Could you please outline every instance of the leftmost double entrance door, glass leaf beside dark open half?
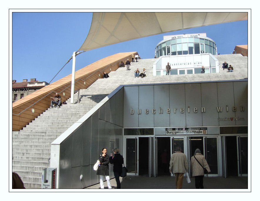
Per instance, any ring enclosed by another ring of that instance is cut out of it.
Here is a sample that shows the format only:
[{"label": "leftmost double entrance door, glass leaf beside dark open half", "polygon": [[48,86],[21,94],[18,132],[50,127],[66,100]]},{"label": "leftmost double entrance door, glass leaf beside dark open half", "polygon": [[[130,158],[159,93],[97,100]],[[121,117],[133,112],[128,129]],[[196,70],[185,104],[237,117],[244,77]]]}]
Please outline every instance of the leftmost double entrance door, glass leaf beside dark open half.
[{"label": "leftmost double entrance door, glass leaf beside dark open half", "polygon": [[153,138],[127,137],[125,142],[127,175],[152,176]]}]

